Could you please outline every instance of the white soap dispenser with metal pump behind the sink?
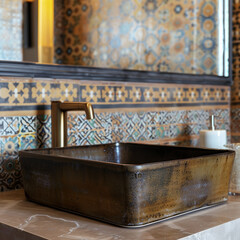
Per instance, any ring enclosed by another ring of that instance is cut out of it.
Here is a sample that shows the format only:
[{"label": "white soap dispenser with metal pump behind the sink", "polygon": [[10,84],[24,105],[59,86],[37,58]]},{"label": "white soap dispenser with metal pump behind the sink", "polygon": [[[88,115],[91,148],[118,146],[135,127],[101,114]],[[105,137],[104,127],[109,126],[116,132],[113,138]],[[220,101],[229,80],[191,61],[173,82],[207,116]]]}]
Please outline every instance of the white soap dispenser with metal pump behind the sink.
[{"label": "white soap dispenser with metal pump behind the sink", "polygon": [[209,130],[200,130],[200,147],[203,148],[225,148],[227,143],[226,130],[216,130],[214,116],[210,116]]}]

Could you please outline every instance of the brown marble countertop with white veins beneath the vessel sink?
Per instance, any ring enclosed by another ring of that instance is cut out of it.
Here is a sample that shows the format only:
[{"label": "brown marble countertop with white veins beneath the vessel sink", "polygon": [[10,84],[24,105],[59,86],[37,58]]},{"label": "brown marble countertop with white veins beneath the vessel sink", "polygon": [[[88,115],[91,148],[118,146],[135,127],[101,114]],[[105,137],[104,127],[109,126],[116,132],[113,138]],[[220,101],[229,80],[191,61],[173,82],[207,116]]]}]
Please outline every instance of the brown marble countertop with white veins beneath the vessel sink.
[{"label": "brown marble countertop with white veins beneath the vessel sink", "polygon": [[240,197],[231,196],[225,204],[151,226],[127,229],[29,202],[23,190],[0,193],[1,240],[232,240],[240,235],[239,224]]}]

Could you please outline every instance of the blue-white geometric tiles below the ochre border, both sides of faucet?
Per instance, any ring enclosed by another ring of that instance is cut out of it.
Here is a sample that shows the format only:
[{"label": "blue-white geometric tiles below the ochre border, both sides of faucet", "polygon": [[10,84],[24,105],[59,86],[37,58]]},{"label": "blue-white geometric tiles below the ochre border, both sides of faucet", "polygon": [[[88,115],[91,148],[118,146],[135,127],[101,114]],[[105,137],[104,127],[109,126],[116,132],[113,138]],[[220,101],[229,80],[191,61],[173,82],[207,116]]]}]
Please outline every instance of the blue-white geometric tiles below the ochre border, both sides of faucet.
[{"label": "blue-white geometric tiles below the ochre border, both sides of faucet", "polygon": [[[90,121],[85,115],[71,113],[68,115],[68,144],[156,140],[160,144],[197,145],[199,130],[207,128],[211,114],[218,116],[217,127],[229,132],[229,109],[105,112],[96,114]],[[5,117],[6,121],[12,119]],[[0,136],[0,191],[22,187],[19,150],[51,147],[49,116],[19,116],[17,119],[18,133]],[[27,131],[22,127],[26,119],[29,119]]]}]

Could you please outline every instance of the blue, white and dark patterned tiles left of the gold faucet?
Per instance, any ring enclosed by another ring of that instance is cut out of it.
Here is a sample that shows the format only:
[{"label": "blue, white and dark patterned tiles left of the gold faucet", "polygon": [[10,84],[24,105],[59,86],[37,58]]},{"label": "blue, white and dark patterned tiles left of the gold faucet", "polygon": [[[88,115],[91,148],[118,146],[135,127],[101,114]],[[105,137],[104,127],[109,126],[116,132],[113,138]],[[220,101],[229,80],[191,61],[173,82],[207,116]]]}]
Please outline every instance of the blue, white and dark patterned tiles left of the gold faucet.
[{"label": "blue, white and dark patterned tiles left of the gold faucet", "polygon": [[[0,135],[0,191],[22,187],[18,151],[51,147],[49,116],[3,117],[4,122],[14,120],[14,131]],[[8,127],[7,127],[8,129]]]}]

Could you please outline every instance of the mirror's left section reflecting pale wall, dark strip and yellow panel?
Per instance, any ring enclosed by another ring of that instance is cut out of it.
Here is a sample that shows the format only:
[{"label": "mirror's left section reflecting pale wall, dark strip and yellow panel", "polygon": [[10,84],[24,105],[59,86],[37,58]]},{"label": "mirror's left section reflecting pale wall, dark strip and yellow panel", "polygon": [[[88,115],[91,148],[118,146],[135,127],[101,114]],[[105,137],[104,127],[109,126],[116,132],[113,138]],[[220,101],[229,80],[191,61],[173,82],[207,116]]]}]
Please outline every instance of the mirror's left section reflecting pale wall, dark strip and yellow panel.
[{"label": "mirror's left section reflecting pale wall, dark strip and yellow panel", "polygon": [[0,2],[0,60],[53,63],[54,0]]}]

